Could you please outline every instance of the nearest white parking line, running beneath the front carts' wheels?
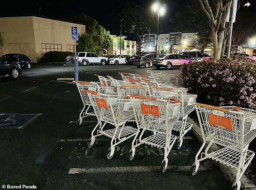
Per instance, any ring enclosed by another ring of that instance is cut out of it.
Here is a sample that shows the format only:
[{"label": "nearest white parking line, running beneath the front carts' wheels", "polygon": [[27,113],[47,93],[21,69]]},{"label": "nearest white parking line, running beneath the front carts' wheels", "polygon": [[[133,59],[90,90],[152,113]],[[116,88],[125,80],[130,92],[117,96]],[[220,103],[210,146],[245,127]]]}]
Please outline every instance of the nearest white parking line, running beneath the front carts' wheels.
[{"label": "nearest white parking line, running beneath the front carts' wheels", "polygon": [[[191,165],[170,165],[169,171],[190,171]],[[199,170],[210,170],[213,167],[200,165]],[[90,167],[90,168],[71,168],[69,174],[75,173],[123,173],[123,172],[151,172],[159,171],[160,166],[124,166],[124,167]]]}]

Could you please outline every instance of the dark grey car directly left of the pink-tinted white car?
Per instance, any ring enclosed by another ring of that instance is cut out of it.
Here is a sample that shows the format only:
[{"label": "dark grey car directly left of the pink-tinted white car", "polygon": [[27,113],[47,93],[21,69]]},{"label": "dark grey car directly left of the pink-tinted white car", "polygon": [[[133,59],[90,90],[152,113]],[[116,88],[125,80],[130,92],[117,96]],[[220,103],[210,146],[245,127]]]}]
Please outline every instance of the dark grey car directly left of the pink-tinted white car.
[{"label": "dark grey car directly left of the pink-tinted white car", "polygon": [[158,58],[159,54],[145,54],[142,56],[136,56],[134,58],[133,65],[136,65],[136,67],[140,68],[141,66],[145,66],[145,68],[149,68],[152,66],[152,62],[154,58]]}]

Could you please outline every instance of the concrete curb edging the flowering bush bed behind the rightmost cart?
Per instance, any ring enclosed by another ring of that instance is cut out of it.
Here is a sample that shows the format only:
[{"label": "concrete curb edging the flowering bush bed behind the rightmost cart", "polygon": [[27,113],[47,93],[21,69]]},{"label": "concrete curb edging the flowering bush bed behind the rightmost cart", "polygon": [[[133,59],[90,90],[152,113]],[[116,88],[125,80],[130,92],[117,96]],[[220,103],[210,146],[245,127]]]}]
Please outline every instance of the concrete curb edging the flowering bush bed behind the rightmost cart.
[{"label": "concrete curb edging the flowering bush bed behind the rightmost cart", "polygon": [[[203,143],[203,137],[201,134],[200,127],[189,117],[187,118],[187,121],[193,124],[191,132],[193,133],[195,138],[197,138],[197,140],[200,143]],[[218,149],[219,148],[216,144],[212,144],[209,150],[210,152],[213,152],[213,151],[217,151]],[[231,168],[226,165],[220,164],[218,161],[214,161],[214,162],[232,183],[235,182],[235,177],[236,177],[235,168]],[[241,177],[240,181],[241,181],[241,190],[256,190],[256,186],[245,175]]]}]

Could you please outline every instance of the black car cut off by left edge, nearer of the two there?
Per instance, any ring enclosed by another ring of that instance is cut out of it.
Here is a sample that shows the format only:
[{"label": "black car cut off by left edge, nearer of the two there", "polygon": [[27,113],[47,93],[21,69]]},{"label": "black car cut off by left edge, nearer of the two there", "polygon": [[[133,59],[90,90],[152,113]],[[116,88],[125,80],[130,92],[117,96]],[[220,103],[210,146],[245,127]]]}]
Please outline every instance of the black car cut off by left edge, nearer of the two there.
[{"label": "black car cut off by left edge, nearer of the two there", "polygon": [[7,62],[0,58],[0,76],[11,76],[12,78],[17,78],[22,74],[21,66],[17,63]]}]

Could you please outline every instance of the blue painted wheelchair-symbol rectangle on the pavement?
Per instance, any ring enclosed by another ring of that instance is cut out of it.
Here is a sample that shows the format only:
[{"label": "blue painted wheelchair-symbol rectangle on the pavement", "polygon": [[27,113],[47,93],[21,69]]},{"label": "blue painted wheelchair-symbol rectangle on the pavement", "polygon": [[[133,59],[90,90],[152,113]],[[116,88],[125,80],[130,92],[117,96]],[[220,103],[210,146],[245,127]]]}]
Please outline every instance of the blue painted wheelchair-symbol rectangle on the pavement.
[{"label": "blue painted wheelchair-symbol rectangle on the pavement", "polygon": [[23,128],[42,114],[0,114],[0,128]]}]

